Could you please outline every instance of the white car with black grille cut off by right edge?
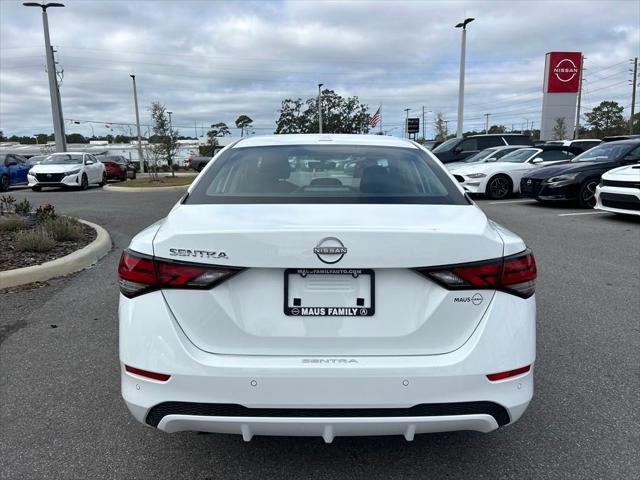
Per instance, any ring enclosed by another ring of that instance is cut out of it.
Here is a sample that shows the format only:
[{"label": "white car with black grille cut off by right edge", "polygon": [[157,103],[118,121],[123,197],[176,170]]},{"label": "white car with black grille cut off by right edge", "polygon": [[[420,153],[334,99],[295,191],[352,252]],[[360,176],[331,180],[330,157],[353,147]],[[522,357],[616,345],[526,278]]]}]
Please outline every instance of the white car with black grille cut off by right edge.
[{"label": "white car with black grille cut off by right edge", "polygon": [[598,210],[640,215],[640,165],[614,168],[602,175],[596,187]]}]

